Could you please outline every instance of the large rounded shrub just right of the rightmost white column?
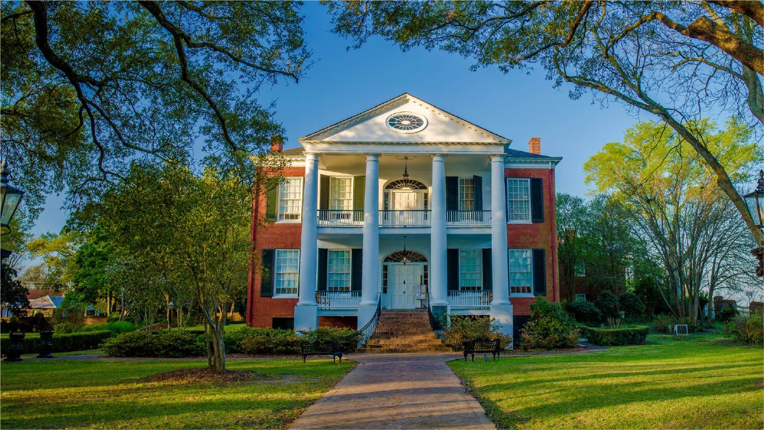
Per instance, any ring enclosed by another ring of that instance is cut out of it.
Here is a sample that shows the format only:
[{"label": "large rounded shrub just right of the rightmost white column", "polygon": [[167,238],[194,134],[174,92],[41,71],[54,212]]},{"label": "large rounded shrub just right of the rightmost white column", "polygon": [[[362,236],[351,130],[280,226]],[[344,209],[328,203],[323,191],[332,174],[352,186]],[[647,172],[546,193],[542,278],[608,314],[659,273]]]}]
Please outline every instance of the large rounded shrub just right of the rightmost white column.
[{"label": "large rounded shrub just right of the rightmost white column", "polygon": [[547,302],[539,296],[530,305],[530,321],[523,327],[520,346],[524,350],[543,348],[575,348],[578,346],[578,328],[568,312],[559,303]]}]

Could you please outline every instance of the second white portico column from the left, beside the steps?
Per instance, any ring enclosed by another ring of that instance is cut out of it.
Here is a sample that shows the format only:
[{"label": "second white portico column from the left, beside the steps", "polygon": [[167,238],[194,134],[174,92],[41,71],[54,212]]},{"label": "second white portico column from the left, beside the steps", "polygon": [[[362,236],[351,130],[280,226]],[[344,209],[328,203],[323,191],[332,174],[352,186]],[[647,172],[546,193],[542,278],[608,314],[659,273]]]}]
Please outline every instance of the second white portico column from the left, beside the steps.
[{"label": "second white portico column from the left, beside the steps", "polygon": [[380,154],[366,154],[364,189],[364,252],[361,276],[361,303],[358,304],[360,329],[377,312],[380,290]]}]

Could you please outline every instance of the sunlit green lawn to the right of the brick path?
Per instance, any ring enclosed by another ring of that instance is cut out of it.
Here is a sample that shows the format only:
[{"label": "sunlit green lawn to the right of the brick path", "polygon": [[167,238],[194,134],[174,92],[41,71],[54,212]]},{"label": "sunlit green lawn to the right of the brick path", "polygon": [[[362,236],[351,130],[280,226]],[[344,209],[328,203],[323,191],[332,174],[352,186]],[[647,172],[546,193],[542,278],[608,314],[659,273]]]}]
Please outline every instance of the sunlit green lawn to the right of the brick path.
[{"label": "sunlit green lawn to the right of the brick path", "polygon": [[500,428],[764,427],[764,351],[715,335],[449,365]]}]

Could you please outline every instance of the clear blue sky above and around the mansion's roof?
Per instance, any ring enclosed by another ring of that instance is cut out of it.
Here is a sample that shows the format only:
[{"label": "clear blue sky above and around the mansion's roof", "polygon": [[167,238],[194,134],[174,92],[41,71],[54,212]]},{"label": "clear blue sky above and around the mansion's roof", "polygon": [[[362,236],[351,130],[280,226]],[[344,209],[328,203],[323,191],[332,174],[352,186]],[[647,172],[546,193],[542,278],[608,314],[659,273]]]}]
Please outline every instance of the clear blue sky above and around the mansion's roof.
[{"label": "clear blue sky above and around the mansion's roof", "polygon": [[[473,63],[451,53],[410,50],[374,38],[359,50],[331,32],[329,16],[318,2],[306,2],[306,43],[316,63],[299,83],[280,84],[261,92],[264,105],[274,100],[276,119],[286,128],[286,147],[297,137],[317,131],[367,108],[410,92],[433,105],[513,140],[528,150],[530,137],[541,137],[542,154],[563,157],[557,167],[557,190],[583,196],[588,192],[582,168],[602,145],[620,141],[641,118],[623,105],[592,104],[590,95],[568,98],[564,85],[553,89],[541,69],[500,73],[496,68],[471,72]],[[49,196],[32,233],[60,231],[68,214],[63,196]]]}]

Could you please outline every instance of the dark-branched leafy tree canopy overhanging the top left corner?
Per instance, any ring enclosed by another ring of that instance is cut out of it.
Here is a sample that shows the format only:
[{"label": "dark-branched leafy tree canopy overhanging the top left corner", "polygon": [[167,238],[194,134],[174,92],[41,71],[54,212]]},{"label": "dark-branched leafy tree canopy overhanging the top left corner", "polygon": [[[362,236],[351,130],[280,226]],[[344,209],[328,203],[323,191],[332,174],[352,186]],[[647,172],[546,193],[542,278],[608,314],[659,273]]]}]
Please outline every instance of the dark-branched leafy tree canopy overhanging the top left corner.
[{"label": "dark-branched leafy tree canopy overhanging the top left corner", "polygon": [[257,91],[308,66],[299,5],[4,2],[2,150],[25,205],[65,186],[97,199],[128,160],[186,159],[196,141],[252,179],[247,157],[283,134]]}]

